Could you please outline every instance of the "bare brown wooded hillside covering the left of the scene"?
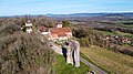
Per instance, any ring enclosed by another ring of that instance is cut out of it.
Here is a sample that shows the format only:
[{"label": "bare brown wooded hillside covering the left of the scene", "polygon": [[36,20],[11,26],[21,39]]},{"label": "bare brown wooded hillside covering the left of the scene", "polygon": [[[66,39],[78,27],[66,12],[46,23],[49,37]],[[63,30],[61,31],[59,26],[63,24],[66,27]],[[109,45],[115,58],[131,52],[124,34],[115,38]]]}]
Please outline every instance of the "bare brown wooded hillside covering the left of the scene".
[{"label": "bare brown wooded hillside covering the left of the scene", "polygon": [[[44,18],[45,19],[45,18]],[[24,18],[0,19],[0,74],[51,74],[54,53],[35,33],[21,31]],[[40,20],[40,18],[32,19]],[[41,19],[42,20],[42,19]],[[44,20],[43,25],[52,22]]]}]

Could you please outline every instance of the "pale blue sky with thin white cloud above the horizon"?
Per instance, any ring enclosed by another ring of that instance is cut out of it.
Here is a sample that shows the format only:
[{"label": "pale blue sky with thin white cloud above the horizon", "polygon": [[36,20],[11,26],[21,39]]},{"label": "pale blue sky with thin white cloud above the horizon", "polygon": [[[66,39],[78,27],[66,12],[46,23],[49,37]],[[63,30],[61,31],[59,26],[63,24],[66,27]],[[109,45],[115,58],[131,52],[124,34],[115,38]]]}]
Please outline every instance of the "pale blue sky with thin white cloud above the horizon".
[{"label": "pale blue sky with thin white cloud above the horizon", "polygon": [[0,0],[0,15],[133,12],[133,0]]}]

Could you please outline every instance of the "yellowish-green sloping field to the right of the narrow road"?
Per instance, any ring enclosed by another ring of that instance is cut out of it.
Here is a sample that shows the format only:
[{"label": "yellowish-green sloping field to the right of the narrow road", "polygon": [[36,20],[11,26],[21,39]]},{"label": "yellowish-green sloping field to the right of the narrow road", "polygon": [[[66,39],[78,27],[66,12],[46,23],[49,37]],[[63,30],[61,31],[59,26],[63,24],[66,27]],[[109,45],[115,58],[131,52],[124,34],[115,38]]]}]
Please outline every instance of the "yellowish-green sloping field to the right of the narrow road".
[{"label": "yellowish-green sloping field to the right of the narrow road", "polygon": [[112,73],[133,74],[133,57],[131,56],[117,54],[99,46],[81,47],[81,52]]}]

